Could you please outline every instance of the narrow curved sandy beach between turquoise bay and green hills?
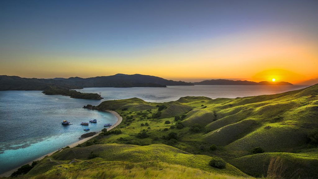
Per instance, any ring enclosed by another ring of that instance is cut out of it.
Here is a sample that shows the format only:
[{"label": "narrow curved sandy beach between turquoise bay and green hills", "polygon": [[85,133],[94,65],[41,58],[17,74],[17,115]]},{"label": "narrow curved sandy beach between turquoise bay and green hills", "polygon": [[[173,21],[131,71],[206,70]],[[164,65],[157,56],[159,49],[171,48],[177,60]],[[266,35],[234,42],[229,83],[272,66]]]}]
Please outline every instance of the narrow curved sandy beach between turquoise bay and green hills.
[{"label": "narrow curved sandy beach between turquoise bay and green hills", "polygon": [[[114,114],[114,115],[116,116],[116,118],[117,118],[117,122],[116,122],[114,125],[110,126],[110,127],[107,129],[107,131],[110,131],[110,130],[114,129],[116,126],[118,126],[118,125],[121,123],[122,117],[121,117],[121,115],[119,115],[116,111],[110,111],[110,110],[105,110],[105,111]],[[76,147],[77,145],[82,144],[82,143],[86,142],[87,140],[90,140],[90,139],[92,139],[92,138],[98,136],[100,133],[101,133],[101,131],[100,131],[100,132],[97,132],[95,135],[93,135],[93,136],[91,136],[91,137],[87,137],[87,138],[84,138],[84,139],[79,140],[79,141],[77,141],[77,142],[74,142],[73,144],[68,145],[68,147]],[[67,147],[67,146],[65,146],[65,147]],[[60,150],[61,150],[61,149],[60,149]],[[51,156],[52,154],[54,154],[54,153],[57,152],[57,151],[59,151],[59,150],[56,150],[56,151],[51,152],[51,153],[49,153],[49,154],[46,154],[46,155],[44,155],[44,156],[42,156],[42,157],[39,157],[39,158],[37,158],[37,159],[35,159],[35,160],[32,160],[32,161],[30,161],[30,162],[28,162],[28,163],[25,163],[24,165],[26,165],[26,164],[30,164],[30,165],[31,165],[31,163],[32,163],[33,161],[42,160],[42,159],[44,159],[46,156]],[[22,166],[23,166],[23,165],[21,165],[21,166],[19,166],[19,167],[17,167],[17,168],[14,168],[14,169],[12,169],[12,170],[9,170],[9,171],[7,171],[7,172],[4,172],[3,174],[0,174],[0,177],[9,177],[13,172],[17,171],[17,169],[18,169],[18,168],[21,168]]]}]

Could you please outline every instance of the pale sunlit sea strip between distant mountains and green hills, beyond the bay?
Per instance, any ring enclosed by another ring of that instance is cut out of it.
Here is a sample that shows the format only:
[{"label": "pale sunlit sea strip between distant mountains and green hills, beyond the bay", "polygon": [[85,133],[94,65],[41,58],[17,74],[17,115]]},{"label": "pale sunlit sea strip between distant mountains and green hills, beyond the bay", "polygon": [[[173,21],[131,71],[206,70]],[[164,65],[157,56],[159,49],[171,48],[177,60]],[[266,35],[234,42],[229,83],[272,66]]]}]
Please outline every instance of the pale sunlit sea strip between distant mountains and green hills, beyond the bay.
[{"label": "pale sunlit sea strip between distant mountains and green hills, beyond the bay", "polygon": [[195,85],[168,86],[167,88],[85,88],[83,93],[99,93],[105,100],[138,97],[148,102],[169,102],[185,96],[205,96],[236,98],[258,95],[270,95],[305,88],[307,86],[252,86],[252,85]]}]

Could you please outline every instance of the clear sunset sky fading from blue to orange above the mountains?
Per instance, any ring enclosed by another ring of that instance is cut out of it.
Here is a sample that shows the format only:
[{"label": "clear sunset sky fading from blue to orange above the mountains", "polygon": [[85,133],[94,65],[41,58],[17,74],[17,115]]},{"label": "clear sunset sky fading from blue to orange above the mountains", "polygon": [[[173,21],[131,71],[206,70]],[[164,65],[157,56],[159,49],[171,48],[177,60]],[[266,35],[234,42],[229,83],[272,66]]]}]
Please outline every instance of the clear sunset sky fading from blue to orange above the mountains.
[{"label": "clear sunset sky fading from blue to orange above the mountains", "polygon": [[0,1],[0,75],[318,77],[317,0]]}]

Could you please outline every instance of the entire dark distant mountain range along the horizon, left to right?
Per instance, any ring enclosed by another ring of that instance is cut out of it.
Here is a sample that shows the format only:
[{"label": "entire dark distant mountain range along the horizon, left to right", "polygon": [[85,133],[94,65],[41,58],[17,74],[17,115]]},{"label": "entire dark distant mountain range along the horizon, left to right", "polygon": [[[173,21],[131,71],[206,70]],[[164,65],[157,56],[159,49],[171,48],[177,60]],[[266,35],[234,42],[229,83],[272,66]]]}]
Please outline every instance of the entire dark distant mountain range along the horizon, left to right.
[{"label": "entire dark distant mountain range along the horizon, left to right", "polygon": [[0,90],[45,90],[49,87],[59,89],[81,89],[87,87],[166,87],[166,86],[191,86],[191,85],[293,85],[289,82],[250,82],[233,80],[205,80],[202,82],[183,82],[166,80],[150,75],[125,75],[97,76],[92,78],[21,78],[19,76],[0,75]]}]

